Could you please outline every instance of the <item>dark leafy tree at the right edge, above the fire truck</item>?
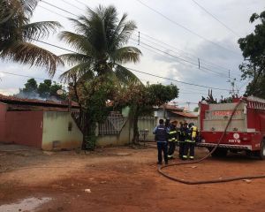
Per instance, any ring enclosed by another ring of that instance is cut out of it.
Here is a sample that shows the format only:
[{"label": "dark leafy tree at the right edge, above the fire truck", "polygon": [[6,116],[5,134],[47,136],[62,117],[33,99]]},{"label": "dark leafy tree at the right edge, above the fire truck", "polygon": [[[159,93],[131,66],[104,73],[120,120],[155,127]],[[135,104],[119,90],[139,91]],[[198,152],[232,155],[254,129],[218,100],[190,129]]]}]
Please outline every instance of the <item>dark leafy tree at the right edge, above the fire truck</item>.
[{"label": "dark leafy tree at the right edge, above the fire truck", "polygon": [[246,87],[246,95],[265,98],[265,11],[254,13],[250,22],[258,21],[254,33],[239,39],[245,62],[239,65],[242,79],[251,79]]}]

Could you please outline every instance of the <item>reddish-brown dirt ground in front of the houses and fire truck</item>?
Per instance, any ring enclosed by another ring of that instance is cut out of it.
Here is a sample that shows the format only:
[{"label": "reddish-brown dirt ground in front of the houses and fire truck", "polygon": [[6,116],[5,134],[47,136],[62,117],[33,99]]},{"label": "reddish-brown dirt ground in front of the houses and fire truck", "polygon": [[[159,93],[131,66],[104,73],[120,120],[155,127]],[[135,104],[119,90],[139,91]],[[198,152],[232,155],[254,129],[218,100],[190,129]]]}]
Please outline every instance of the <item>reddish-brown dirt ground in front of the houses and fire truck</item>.
[{"label": "reddish-brown dirt ground in front of the houses and fire truck", "polygon": [[[206,154],[196,149],[197,158]],[[229,155],[166,171],[186,179],[228,178],[265,174],[265,161]],[[33,197],[49,201],[10,211],[265,211],[264,191],[265,179],[188,186],[163,178],[154,147],[100,148],[85,155],[0,145],[1,212]]]}]

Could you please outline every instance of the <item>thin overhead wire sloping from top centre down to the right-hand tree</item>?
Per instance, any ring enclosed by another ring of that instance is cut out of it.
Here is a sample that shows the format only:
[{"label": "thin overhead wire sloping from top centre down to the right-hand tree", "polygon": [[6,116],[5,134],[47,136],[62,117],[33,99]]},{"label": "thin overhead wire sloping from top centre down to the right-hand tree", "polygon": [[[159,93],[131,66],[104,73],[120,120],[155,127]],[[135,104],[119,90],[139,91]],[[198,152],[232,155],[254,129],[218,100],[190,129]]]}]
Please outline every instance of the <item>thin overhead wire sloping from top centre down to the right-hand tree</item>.
[{"label": "thin overhead wire sloping from top centre down to the right-hand tree", "polygon": [[173,19],[170,19],[169,17],[165,16],[162,12],[160,12],[160,11],[156,11],[154,8],[148,6],[148,4],[144,4],[144,3],[143,3],[142,1],[140,1],[140,0],[136,0],[136,1],[139,2],[140,4],[144,5],[145,7],[147,7],[149,10],[154,11],[156,14],[162,16],[164,19],[169,20],[169,21],[170,21],[171,23],[173,23],[174,25],[177,25],[178,27],[181,27],[181,28],[185,29],[185,30],[186,30],[187,32],[189,32],[190,34],[193,34],[193,35],[195,35],[195,36],[197,36],[197,37],[200,37],[202,40],[207,41],[207,42],[210,42],[210,43],[216,45],[216,46],[219,47],[219,48],[222,48],[222,49],[226,49],[226,50],[228,50],[228,51],[231,51],[233,54],[239,55],[238,52],[236,52],[236,51],[234,51],[234,50],[231,50],[231,49],[227,49],[226,47],[223,47],[223,46],[220,45],[219,43],[217,43],[217,42],[213,42],[213,41],[209,40],[208,38],[205,38],[205,37],[201,36],[201,34],[197,34],[197,33],[194,32],[193,30],[191,30],[191,29],[189,29],[189,28],[187,28],[187,27],[185,27],[185,26],[179,24],[177,21],[175,21],[175,20],[173,20]]}]

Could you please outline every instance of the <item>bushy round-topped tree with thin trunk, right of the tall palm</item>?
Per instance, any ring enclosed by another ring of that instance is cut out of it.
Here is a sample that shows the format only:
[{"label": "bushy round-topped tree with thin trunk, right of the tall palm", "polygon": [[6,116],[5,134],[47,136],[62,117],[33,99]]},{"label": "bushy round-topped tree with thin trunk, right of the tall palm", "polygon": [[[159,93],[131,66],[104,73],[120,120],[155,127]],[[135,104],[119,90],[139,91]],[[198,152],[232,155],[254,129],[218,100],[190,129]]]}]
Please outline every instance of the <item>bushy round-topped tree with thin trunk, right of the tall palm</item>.
[{"label": "bushy round-topped tree with thin trunk, right of the tall palm", "polygon": [[130,118],[133,122],[133,143],[138,144],[138,119],[140,116],[153,115],[154,106],[161,106],[166,102],[178,98],[178,87],[152,84],[144,86],[140,83],[131,83],[121,89],[116,96],[119,105],[130,106]]}]

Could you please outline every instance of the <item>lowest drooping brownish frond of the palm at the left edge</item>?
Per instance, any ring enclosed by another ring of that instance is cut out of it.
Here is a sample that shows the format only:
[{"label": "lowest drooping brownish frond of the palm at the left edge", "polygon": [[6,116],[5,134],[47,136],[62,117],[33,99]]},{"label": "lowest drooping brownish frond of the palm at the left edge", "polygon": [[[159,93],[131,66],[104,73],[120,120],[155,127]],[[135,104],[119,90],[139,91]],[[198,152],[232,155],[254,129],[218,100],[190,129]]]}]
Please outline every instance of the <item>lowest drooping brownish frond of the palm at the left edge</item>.
[{"label": "lowest drooping brownish frond of the palm at the left edge", "polygon": [[29,42],[12,42],[10,48],[4,49],[1,52],[0,57],[21,64],[44,66],[51,77],[54,76],[57,65],[64,64],[61,58],[57,57],[57,55]]}]

